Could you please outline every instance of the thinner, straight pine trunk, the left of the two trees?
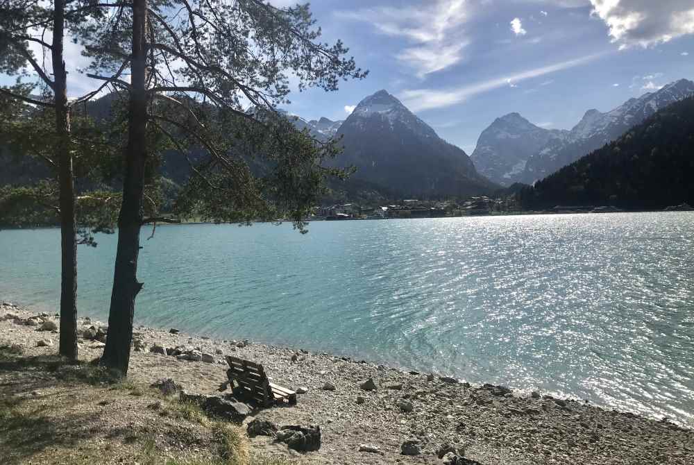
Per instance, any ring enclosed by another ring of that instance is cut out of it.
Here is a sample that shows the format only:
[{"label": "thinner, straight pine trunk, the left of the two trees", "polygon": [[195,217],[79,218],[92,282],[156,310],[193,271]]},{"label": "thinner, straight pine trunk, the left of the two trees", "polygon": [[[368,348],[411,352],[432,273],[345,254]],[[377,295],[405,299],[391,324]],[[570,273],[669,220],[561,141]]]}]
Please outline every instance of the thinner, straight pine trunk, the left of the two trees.
[{"label": "thinner, straight pine trunk, the left of the two trees", "polygon": [[67,108],[67,72],[63,60],[65,0],[56,0],[53,8],[51,58],[56,103],[56,155],[60,183],[60,355],[77,360],[77,241],[75,193],[70,150],[70,113]]}]

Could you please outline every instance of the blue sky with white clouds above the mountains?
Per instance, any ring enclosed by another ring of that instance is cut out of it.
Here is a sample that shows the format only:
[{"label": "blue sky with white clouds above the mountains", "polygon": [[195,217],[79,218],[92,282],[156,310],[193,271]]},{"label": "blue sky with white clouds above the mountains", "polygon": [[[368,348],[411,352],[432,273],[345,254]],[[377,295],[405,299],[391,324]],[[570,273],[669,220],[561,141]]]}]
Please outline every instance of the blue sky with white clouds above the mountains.
[{"label": "blue sky with white clouds above the mountains", "polygon": [[[311,9],[321,40],[342,40],[369,76],[336,92],[292,92],[285,110],[345,119],[385,89],[468,154],[509,112],[570,129],[586,110],[694,79],[692,0],[314,0]],[[66,45],[78,96],[92,83],[77,71],[78,46]]]}]

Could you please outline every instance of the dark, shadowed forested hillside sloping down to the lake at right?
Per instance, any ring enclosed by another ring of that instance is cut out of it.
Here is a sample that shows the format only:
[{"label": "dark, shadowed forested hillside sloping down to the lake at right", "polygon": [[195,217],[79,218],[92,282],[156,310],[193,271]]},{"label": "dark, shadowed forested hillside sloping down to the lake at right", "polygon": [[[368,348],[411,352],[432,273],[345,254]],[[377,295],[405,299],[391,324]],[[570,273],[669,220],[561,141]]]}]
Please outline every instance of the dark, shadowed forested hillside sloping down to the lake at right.
[{"label": "dark, shadowed forested hillside sloping down to the lake at right", "polygon": [[614,142],[521,190],[524,208],[694,204],[694,97],[658,110]]}]

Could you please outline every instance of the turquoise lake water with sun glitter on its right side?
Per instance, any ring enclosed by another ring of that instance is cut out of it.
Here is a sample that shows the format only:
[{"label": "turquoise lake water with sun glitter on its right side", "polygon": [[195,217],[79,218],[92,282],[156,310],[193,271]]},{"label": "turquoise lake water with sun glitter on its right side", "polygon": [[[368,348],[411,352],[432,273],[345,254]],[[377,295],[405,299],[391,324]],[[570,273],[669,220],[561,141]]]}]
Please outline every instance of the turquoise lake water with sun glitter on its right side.
[{"label": "turquoise lake water with sun glitter on its right side", "polygon": [[[143,238],[150,234],[143,230]],[[59,301],[58,230],[0,231],[0,296]],[[79,249],[105,321],[115,236]],[[160,226],[135,319],[694,424],[694,214]]]}]

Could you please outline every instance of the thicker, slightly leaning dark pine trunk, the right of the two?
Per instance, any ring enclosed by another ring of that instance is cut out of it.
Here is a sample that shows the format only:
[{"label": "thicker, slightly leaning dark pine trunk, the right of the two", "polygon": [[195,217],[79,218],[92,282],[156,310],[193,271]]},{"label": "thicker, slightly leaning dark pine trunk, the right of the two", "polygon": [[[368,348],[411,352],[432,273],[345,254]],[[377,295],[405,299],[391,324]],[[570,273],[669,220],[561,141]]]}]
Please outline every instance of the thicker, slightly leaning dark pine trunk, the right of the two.
[{"label": "thicker, slightly leaning dark pine trunk, the right of the two", "polygon": [[111,307],[108,314],[108,336],[101,365],[128,373],[130,342],[133,339],[135,297],[142,283],[137,281],[139,231],[142,227],[144,171],[147,160],[147,0],[133,1],[133,53],[130,61],[130,113],[126,176],[123,202],[118,217],[118,248],[116,251]]}]

